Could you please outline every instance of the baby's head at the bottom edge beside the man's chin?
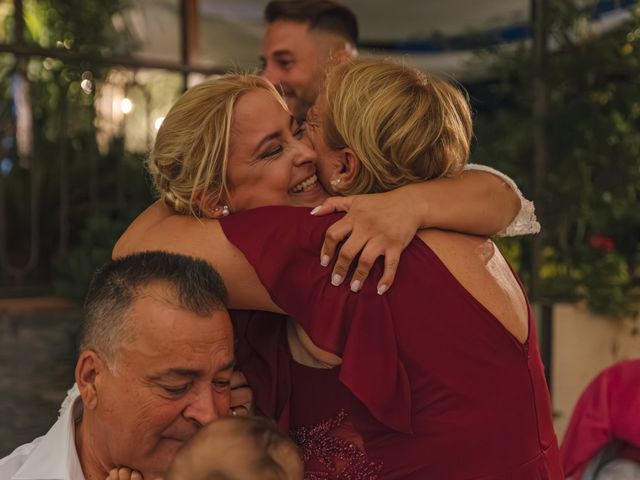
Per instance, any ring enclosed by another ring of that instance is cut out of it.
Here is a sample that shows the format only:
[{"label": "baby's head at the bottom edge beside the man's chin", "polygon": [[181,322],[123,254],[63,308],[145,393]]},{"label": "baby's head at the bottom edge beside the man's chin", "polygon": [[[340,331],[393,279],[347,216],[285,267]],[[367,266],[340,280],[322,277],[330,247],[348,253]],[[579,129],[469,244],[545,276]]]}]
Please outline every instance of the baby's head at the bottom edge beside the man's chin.
[{"label": "baby's head at the bottom edge beside the man's chin", "polygon": [[258,417],[225,417],[178,452],[166,480],[302,480],[295,444]]}]

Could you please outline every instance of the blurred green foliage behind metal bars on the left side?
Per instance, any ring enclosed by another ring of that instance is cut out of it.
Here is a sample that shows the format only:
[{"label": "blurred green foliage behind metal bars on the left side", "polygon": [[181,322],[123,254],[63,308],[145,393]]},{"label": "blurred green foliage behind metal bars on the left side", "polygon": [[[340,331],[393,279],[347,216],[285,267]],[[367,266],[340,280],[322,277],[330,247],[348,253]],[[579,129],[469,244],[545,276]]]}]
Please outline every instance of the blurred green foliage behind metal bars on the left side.
[{"label": "blurred green foliage behind metal bars on the left side", "polygon": [[[129,3],[26,0],[25,42],[91,52],[96,57],[133,51],[136,44],[121,16]],[[0,21],[1,31],[13,39],[13,15]],[[15,133],[17,71],[29,80],[34,151],[32,158],[18,158],[15,138],[13,145],[9,141],[0,147],[1,156],[13,161],[11,171],[0,175],[9,225],[9,262],[23,265],[31,250],[31,235],[37,235],[38,266],[18,283],[42,285],[45,291],[53,285],[57,293],[81,299],[93,271],[110,258],[115,240],[151,201],[144,158],[125,151],[121,133],[116,133],[108,153],[100,153],[95,100],[109,70],[91,62],[40,57],[24,62],[0,55],[3,138],[11,139]],[[39,210],[35,232],[29,200],[34,191]],[[16,282],[10,275],[0,275],[0,287]]]}]

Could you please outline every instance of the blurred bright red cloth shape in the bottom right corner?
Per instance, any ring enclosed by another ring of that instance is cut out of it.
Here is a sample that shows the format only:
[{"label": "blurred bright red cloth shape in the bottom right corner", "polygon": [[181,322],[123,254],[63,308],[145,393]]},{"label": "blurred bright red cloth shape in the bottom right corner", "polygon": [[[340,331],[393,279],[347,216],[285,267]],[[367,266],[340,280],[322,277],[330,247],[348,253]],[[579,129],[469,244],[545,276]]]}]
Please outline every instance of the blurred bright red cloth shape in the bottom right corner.
[{"label": "blurred bright red cloth shape in the bottom right corner", "polygon": [[640,479],[640,360],[617,363],[589,384],[561,455],[571,480]]}]

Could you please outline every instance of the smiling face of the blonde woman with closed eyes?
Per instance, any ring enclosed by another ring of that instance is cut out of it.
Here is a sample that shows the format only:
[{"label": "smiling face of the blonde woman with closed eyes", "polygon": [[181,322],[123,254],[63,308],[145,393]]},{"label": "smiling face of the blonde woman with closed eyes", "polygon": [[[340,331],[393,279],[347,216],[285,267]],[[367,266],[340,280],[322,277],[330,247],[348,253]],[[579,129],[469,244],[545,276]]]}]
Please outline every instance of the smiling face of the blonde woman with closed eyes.
[{"label": "smiling face of the blonde woman with closed eyes", "polygon": [[234,107],[228,158],[232,211],[268,205],[314,207],[327,198],[316,177],[315,151],[304,129],[262,88]]}]

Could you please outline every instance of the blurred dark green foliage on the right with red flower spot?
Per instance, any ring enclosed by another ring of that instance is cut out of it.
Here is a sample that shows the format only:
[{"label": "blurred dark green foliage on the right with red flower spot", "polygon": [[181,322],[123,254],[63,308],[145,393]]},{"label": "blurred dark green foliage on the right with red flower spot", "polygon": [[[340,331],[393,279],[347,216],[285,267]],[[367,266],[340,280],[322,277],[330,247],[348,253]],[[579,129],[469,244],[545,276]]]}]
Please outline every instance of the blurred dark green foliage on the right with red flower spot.
[{"label": "blurred dark green foliage on the right with red flower spot", "polygon": [[[584,299],[598,313],[633,314],[640,302],[640,7],[596,34],[593,12],[568,0],[548,4],[548,157],[535,199],[543,227],[540,300]],[[532,55],[522,43],[479,56],[495,81],[475,93],[490,105],[479,108],[473,154],[529,196]],[[513,256],[526,253],[522,242],[501,244]]]}]

